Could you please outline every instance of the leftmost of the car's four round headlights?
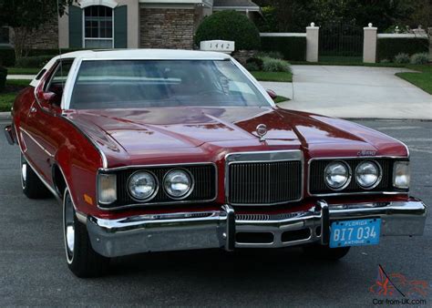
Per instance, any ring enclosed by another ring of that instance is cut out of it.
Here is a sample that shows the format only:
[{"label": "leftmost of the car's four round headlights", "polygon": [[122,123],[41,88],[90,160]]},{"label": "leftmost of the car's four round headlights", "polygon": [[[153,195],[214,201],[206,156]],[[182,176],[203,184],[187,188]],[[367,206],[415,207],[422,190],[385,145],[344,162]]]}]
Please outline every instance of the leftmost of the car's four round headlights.
[{"label": "leftmost of the car's four round headlights", "polygon": [[135,200],[145,201],[156,195],[158,182],[150,172],[138,171],[130,176],[128,188],[130,197]]}]

